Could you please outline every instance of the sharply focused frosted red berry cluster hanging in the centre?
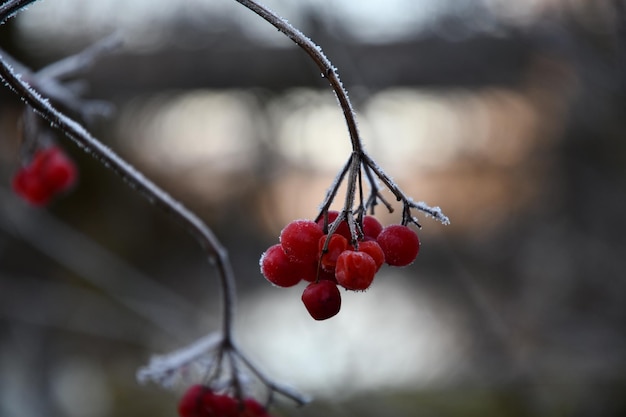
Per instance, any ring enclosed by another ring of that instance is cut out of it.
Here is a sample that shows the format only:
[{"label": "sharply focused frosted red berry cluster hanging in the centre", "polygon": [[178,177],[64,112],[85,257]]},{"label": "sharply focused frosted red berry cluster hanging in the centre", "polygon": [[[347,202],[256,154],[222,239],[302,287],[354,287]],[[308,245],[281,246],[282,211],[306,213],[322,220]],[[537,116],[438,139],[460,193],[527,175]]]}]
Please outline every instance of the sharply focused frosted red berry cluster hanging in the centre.
[{"label": "sharply focused frosted red berry cluster hanging in the centre", "polygon": [[[339,212],[328,212],[332,224]],[[280,233],[280,243],[261,256],[261,273],[272,284],[291,287],[310,282],[302,302],[315,320],[325,320],[341,308],[338,286],[364,291],[384,263],[406,266],[419,251],[417,234],[407,226],[384,227],[373,216],[358,224],[358,244],[351,244],[348,223],[343,220],[332,235],[324,233],[324,219],[295,220]]]}]

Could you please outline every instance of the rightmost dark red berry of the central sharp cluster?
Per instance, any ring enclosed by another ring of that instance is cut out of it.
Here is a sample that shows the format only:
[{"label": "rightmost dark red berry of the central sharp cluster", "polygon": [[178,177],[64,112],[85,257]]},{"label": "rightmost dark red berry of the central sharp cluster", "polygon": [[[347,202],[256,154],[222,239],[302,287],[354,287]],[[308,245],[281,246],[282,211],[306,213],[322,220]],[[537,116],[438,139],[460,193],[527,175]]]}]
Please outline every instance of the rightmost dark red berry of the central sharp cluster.
[{"label": "rightmost dark red berry of the central sharp cluster", "polygon": [[385,262],[393,266],[406,266],[417,257],[420,241],[408,226],[394,224],[387,226],[376,238],[385,254]]}]

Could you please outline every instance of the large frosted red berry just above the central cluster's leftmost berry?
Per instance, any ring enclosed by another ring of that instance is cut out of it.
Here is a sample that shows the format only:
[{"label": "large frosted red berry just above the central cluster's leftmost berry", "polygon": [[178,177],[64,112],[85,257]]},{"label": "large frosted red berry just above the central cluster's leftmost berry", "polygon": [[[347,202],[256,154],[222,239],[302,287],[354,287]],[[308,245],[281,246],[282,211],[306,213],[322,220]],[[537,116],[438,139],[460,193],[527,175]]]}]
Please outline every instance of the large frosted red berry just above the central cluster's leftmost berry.
[{"label": "large frosted red berry just above the central cluster's leftmost berry", "polygon": [[310,263],[317,260],[322,228],[311,220],[294,220],[280,232],[280,244],[289,259]]}]

